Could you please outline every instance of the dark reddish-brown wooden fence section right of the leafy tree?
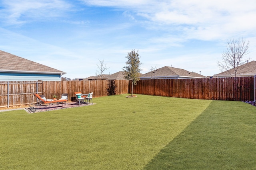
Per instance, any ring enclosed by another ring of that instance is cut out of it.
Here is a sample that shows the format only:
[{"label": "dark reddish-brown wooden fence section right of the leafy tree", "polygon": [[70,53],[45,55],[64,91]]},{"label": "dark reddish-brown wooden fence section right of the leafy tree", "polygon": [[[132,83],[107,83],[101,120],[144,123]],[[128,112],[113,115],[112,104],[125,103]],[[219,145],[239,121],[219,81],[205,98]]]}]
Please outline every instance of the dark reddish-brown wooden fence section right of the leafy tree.
[{"label": "dark reddish-brown wooden fence section right of the leafy tree", "polygon": [[[129,84],[131,93],[131,84]],[[255,100],[255,78],[195,78],[140,80],[134,94],[205,100]]]}]

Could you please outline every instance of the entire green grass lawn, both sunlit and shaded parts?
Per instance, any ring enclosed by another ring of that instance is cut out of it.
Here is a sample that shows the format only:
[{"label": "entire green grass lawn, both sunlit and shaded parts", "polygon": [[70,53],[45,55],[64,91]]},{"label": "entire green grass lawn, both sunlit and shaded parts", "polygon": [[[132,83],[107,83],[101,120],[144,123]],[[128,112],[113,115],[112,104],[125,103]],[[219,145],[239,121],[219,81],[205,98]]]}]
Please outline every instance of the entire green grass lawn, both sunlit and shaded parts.
[{"label": "entire green grass lawn, both sunlit and shaded parts", "polygon": [[126,95],[0,112],[0,169],[254,169],[256,107]]}]

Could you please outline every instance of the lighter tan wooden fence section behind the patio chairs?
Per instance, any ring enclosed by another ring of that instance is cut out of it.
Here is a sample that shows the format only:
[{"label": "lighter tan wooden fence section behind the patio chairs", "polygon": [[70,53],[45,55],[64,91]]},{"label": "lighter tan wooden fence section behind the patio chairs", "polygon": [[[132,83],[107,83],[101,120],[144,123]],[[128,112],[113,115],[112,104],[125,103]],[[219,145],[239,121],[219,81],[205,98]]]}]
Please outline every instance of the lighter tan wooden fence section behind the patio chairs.
[{"label": "lighter tan wooden fence section behind the patio chairs", "polygon": [[34,93],[46,98],[67,93],[70,101],[75,98],[74,92],[93,92],[93,97],[126,94],[128,84],[128,80],[0,82],[0,107],[36,103]]}]

